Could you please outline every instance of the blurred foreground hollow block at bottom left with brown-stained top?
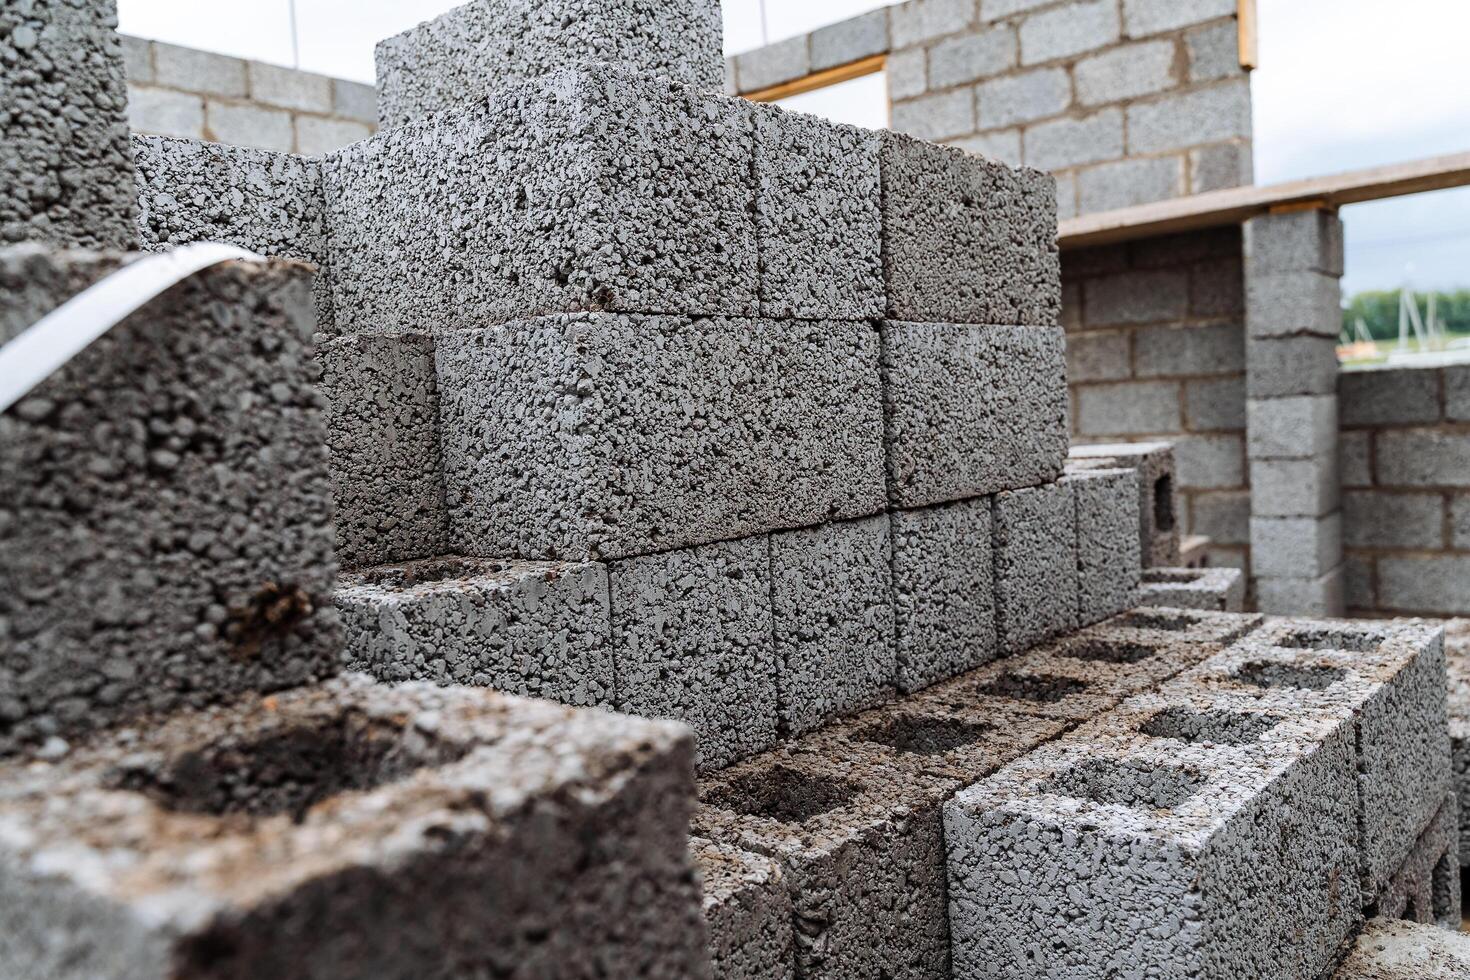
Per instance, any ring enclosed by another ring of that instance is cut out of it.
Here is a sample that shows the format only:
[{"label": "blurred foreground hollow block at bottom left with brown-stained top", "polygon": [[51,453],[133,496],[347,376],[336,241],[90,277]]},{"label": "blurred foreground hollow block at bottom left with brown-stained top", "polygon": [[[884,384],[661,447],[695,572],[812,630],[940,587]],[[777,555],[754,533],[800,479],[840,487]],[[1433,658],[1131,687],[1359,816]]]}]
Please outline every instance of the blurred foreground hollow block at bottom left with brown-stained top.
[{"label": "blurred foreground hollow block at bottom left with brown-stained top", "polygon": [[667,723],[360,677],[110,735],[0,774],[6,965],[709,977],[692,752]]}]

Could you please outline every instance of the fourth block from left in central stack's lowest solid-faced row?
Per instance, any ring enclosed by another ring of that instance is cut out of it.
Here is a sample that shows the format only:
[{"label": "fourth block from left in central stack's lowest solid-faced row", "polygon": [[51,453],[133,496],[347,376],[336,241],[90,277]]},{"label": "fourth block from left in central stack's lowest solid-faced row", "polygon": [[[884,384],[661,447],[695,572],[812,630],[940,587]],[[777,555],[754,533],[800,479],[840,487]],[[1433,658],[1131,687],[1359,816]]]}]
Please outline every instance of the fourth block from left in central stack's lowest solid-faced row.
[{"label": "fourth block from left in central stack's lowest solid-faced row", "polygon": [[991,501],[894,511],[895,683],[913,692],[994,660]]}]

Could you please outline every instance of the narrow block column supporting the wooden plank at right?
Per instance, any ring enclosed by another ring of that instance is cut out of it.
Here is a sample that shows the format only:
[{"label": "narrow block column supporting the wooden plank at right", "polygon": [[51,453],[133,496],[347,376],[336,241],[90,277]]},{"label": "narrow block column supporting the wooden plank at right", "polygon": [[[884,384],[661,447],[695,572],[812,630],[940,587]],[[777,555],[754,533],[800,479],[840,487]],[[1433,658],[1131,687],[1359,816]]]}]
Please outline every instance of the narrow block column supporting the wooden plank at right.
[{"label": "narrow block column supporting the wooden plank at right", "polygon": [[1263,613],[1341,616],[1338,334],[1342,222],[1332,210],[1245,225],[1251,585]]}]

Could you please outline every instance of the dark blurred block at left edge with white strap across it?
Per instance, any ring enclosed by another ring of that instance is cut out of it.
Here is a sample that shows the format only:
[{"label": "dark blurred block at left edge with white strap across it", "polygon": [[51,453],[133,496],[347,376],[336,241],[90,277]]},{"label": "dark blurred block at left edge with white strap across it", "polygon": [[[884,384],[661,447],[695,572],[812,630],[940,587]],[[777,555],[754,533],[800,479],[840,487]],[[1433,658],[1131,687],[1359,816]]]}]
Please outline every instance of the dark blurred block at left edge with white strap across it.
[{"label": "dark blurred block at left edge with white strap across it", "polygon": [[[0,338],[121,264],[0,253]],[[312,275],[228,263],[0,417],[0,754],[338,669]]]}]

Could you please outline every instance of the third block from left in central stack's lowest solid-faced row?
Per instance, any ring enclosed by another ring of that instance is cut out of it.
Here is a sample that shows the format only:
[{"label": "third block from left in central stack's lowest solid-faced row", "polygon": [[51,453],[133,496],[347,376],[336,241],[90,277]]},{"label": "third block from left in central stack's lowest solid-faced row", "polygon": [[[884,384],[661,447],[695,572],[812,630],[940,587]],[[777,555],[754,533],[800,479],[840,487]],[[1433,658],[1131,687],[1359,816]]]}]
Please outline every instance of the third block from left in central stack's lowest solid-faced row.
[{"label": "third block from left in central stack's lowest solid-faced row", "polygon": [[770,536],[782,733],[886,696],[898,669],[888,514]]}]

